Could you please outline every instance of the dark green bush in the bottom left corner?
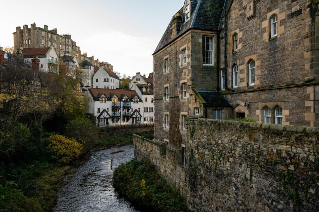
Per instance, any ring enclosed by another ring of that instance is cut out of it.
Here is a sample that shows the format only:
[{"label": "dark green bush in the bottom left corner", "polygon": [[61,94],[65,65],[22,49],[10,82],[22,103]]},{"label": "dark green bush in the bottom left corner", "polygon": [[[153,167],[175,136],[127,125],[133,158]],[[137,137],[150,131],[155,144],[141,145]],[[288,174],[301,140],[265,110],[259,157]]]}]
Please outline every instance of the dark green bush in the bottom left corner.
[{"label": "dark green bush in the bottom left corner", "polygon": [[25,197],[17,184],[7,182],[6,186],[0,185],[0,211],[1,212],[39,212],[42,211],[39,203],[33,199]]}]

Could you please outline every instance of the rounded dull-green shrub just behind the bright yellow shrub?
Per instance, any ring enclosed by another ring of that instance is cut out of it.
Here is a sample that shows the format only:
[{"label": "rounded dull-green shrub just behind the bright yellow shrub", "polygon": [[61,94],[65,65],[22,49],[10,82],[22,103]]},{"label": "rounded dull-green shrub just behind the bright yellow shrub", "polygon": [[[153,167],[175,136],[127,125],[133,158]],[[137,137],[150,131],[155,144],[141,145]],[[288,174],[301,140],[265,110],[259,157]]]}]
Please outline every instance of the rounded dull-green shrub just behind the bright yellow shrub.
[{"label": "rounded dull-green shrub just behind the bright yellow shrub", "polygon": [[64,134],[69,138],[85,141],[83,153],[89,151],[98,137],[98,129],[89,119],[76,119],[64,127]]}]

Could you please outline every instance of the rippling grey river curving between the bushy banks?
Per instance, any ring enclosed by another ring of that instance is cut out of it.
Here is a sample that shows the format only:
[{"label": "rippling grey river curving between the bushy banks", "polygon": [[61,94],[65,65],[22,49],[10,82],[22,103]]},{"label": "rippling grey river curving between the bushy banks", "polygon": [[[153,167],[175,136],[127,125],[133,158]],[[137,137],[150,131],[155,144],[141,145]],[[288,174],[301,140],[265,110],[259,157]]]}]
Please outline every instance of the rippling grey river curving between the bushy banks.
[{"label": "rippling grey river curving between the bushy banks", "polygon": [[[111,154],[112,152],[124,150]],[[113,171],[133,159],[133,146],[102,150],[92,155],[58,193],[55,211],[137,211],[112,186]]]}]

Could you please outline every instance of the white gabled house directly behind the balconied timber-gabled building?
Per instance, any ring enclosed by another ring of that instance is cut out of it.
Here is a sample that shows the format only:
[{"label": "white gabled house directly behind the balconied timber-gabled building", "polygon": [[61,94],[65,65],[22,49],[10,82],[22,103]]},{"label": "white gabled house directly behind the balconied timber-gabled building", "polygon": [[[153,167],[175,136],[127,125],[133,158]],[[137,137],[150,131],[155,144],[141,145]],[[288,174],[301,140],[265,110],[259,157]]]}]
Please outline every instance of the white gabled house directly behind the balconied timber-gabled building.
[{"label": "white gabled house directly behind the balconied timber-gabled building", "polygon": [[94,68],[92,81],[93,88],[116,89],[120,87],[120,78],[102,66]]}]

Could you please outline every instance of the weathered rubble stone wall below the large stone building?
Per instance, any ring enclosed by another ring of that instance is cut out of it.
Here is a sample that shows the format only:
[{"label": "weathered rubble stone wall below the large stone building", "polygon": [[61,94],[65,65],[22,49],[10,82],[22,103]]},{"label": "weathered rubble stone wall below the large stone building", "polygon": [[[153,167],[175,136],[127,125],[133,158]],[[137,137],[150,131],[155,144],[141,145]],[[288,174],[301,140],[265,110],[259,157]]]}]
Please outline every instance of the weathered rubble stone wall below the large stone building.
[{"label": "weathered rubble stone wall below the large stone building", "polygon": [[188,119],[185,154],[134,137],[194,211],[318,211],[319,128]]}]

